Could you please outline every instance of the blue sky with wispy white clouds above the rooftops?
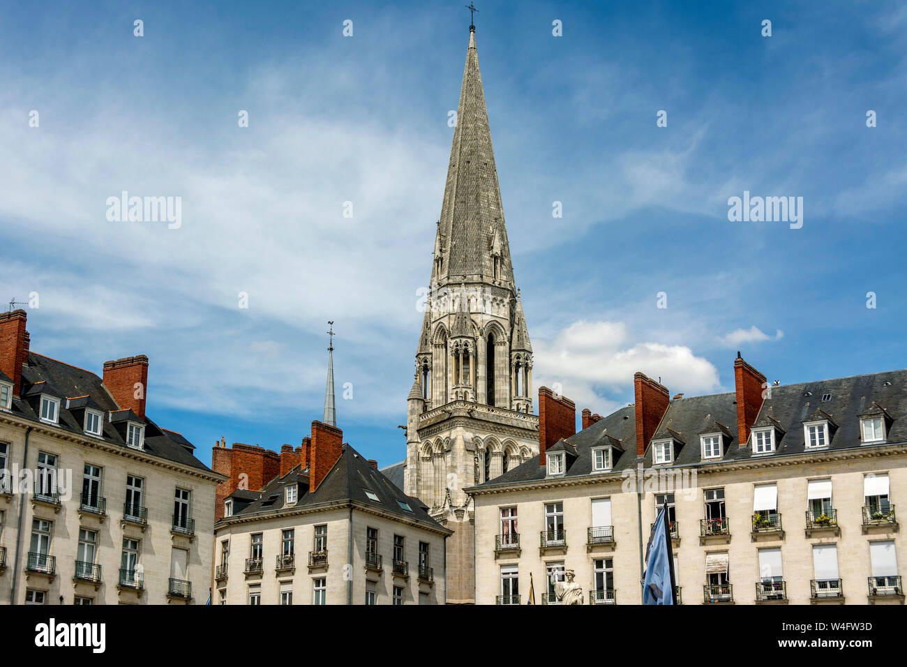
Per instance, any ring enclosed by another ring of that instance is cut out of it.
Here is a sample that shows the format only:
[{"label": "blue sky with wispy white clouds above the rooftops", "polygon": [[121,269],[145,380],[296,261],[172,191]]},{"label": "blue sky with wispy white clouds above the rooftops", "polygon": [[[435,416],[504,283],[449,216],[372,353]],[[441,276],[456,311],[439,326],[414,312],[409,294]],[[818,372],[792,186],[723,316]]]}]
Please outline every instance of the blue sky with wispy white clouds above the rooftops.
[{"label": "blue sky with wispy white clouds above the rooftops", "polygon": [[[0,300],[38,293],[34,351],[147,354],[150,416],[209,462],[308,434],[333,319],[338,426],[400,460],[463,4],[0,8]],[[536,386],[605,414],[636,370],[727,390],[738,349],[782,384],[904,366],[905,5],[478,6]],[[180,229],[108,221],[124,190]],[[743,191],[803,228],[728,221]]]}]

